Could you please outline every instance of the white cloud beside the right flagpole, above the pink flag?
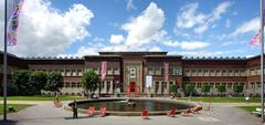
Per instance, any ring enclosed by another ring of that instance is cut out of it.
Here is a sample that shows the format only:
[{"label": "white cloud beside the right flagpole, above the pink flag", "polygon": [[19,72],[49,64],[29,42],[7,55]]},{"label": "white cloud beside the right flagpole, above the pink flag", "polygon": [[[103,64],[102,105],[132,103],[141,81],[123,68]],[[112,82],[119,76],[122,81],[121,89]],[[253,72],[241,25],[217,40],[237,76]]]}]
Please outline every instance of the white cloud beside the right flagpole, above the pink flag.
[{"label": "white cloud beside the right flagpole, above the pink flag", "polygon": [[257,17],[241,24],[231,35],[236,37],[236,35],[248,33],[248,32],[257,32],[258,29],[259,29],[259,18]]}]

